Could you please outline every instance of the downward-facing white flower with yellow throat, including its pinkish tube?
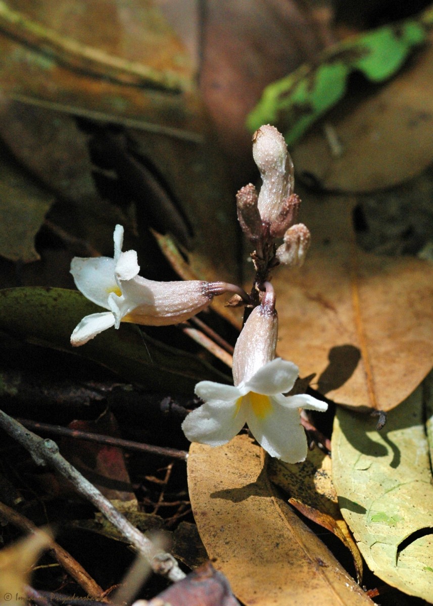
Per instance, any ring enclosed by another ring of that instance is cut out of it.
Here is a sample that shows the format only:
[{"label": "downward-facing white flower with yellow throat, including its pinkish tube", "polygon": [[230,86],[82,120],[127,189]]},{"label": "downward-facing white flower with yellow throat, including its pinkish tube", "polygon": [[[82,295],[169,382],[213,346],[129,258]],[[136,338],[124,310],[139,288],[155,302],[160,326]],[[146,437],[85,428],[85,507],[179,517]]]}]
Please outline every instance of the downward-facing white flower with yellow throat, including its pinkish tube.
[{"label": "downward-facing white flower with yellow throat, including its pinkish tube", "polygon": [[298,367],[275,358],[278,318],[275,296],[266,293],[238,338],[233,353],[234,386],[201,381],[195,393],[205,403],[182,424],[191,442],[220,446],[247,423],[271,456],[288,463],[303,461],[307,441],[299,408],[325,411],[327,404],[309,395],[284,396],[295,384]]}]

